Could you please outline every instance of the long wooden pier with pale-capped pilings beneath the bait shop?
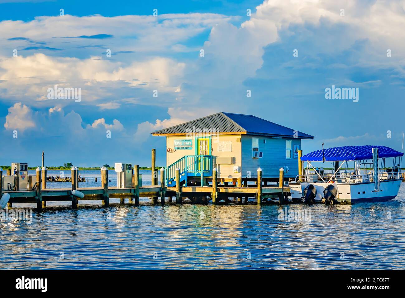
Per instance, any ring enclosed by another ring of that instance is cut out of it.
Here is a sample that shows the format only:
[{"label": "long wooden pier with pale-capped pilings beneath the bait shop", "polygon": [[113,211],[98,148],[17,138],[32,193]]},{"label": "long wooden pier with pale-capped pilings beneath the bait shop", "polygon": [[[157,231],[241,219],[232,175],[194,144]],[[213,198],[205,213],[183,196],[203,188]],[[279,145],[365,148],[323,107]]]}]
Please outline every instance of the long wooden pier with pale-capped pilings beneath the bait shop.
[{"label": "long wooden pier with pale-capped pilings beneath the bait shop", "polygon": [[[118,188],[108,185],[108,170],[101,169],[101,187],[84,187],[79,188],[78,173],[79,170],[75,167],[71,169],[72,187],[66,189],[47,189],[46,185],[46,168],[38,167],[36,169],[36,185],[34,190],[28,191],[2,191],[0,184],[0,197],[3,193],[10,195],[9,206],[13,203],[36,203],[37,210],[41,210],[46,206],[47,202],[72,202],[72,207],[77,208],[80,200],[101,200],[104,206],[109,206],[110,198],[121,199],[121,204],[125,204],[125,199],[129,202],[139,204],[139,197],[150,197],[153,203],[160,204],[172,202],[172,197],[176,197],[176,204],[183,203],[183,199],[189,198],[193,203],[207,204],[207,197],[212,199],[213,204],[219,203],[221,200],[229,201],[230,197],[237,198],[238,203],[242,203],[244,197],[245,202],[248,198],[256,198],[258,205],[264,203],[268,198],[277,198],[279,203],[283,204],[284,198],[290,192],[288,186],[283,185],[283,171],[280,171],[280,184],[275,187],[266,187],[262,183],[261,169],[258,169],[256,185],[248,185],[247,182],[242,185],[241,180],[235,186],[219,184],[217,181],[217,171],[213,169],[213,180],[215,183],[209,186],[181,186],[179,169],[176,169],[176,186],[166,187],[164,169],[160,169],[160,185],[151,185],[139,187],[139,165],[134,165],[134,183],[131,188]],[[153,172],[152,172],[153,173]],[[2,181],[2,171],[0,171],[0,181]],[[153,175],[152,175],[153,177]],[[157,179],[152,180],[153,184],[158,184]],[[280,187],[281,186],[281,187]],[[80,197],[82,196],[83,197]]]}]

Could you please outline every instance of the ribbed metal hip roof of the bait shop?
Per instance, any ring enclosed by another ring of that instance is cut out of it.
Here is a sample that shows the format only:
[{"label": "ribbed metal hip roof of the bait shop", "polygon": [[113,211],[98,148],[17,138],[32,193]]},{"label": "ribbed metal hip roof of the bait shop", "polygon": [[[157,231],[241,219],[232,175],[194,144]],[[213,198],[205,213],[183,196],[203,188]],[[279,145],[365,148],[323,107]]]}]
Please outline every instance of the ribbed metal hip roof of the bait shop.
[{"label": "ribbed metal hip roof of the bait shop", "polygon": [[[273,137],[294,137],[294,129],[281,126],[253,115],[220,112],[183,124],[155,131],[153,135],[187,134],[193,129],[212,130],[217,133],[244,133]],[[313,139],[312,135],[297,131],[298,139]]]}]

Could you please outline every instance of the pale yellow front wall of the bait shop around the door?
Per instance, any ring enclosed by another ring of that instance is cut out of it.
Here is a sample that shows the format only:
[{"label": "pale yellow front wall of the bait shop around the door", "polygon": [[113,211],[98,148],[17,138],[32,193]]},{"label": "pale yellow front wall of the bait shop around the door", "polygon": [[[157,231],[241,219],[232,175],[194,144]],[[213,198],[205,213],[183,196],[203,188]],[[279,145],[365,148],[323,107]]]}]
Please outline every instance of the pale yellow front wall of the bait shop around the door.
[{"label": "pale yellow front wall of the bait shop around the door", "polygon": [[[196,136],[185,137],[185,136],[167,136],[166,137],[166,149],[174,148],[174,140],[179,139],[191,139],[193,142],[192,150],[176,150],[175,152],[166,152],[166,166],[171,165],[175,161],[181,159],[185,155],[194,155],[196,148]],[[239,142],[237,141],[239,139]],[[224,165],[217,164],[218,178],[239,178],[241,177],[241,135],[219,135],[211,137],[211,154],[213,157],[233,157],[234,164]],[[222,152],[218,151],[219,142],[232,142],[232,151],[231,152]],[[239,172],[234,173],[234,166],[239,166]]]}]

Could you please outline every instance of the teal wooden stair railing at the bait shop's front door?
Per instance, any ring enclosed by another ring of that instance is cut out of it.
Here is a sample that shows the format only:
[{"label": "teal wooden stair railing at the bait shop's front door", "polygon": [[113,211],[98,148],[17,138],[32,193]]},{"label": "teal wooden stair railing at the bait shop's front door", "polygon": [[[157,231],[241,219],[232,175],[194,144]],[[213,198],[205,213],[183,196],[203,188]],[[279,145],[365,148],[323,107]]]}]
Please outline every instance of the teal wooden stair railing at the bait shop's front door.
[{"label": "teal wooden stair railing at the bait shop's front door", "polygon": [[166,185],[168,187],[176,186],[176,168],[180,169],[180,183],[184,181],[187,186],[187,177],[204,177],[212,176],[213,168],[212,155],[185,155],[175,161],[165,169]]}]

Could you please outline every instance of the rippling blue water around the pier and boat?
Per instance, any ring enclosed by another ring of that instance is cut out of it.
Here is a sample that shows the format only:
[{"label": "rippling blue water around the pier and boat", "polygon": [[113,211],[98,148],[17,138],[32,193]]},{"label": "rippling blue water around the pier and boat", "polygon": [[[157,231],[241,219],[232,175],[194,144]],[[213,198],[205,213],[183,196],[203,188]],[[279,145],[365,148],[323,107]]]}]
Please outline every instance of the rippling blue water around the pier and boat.
[{"label": "rippling blue water around the pier and boat", "polygon": [[[89,184],[97,172],[81,171]],[[150,184],[150,171],[142,174]],[[113,171],[109,178],[116,181]],[[405,268],[405,183],[390,202],[287,206],[311,210],[310,223],[279,221],[277,211],[286,206],[258,207],[253,199],[242,206],[153,206],[147,198],[139,206],[110,204],[80,201],[72,210],[48,202],[43,212],[33,211],[31,224],[1,221],[0,268]],[[34,204],[14,204],[23,206]]]}]

